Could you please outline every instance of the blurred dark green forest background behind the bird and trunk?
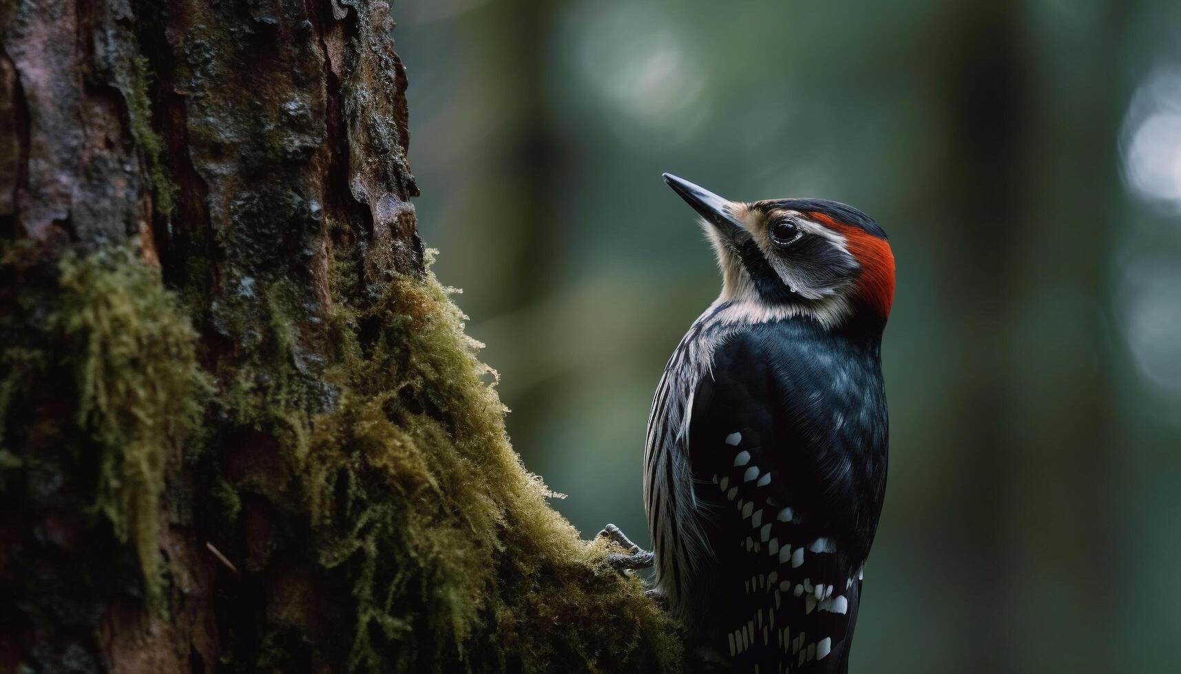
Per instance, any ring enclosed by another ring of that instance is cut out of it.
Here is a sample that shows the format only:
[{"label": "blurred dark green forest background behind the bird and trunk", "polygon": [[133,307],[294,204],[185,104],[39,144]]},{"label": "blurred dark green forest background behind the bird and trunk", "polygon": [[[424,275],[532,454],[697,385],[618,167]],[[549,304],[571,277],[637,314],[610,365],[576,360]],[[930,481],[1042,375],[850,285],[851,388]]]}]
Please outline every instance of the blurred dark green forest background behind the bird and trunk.
[{"label": "blurred dark green forest background behind the bird and trunk", "polygon": [[1176,672],[1176,0],[396,6],[435,270],[533,471],[646,543],[644,427],[719,280],[671,171],[889,233],[856,672]]}]

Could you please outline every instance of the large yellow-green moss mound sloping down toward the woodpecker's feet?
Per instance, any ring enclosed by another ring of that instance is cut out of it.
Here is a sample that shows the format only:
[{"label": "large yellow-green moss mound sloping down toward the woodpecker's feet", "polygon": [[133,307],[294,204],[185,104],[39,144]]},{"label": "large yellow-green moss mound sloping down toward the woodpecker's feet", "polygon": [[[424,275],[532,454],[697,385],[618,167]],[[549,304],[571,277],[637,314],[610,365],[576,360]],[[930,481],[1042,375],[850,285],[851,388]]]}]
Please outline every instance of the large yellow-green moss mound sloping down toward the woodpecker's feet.
[{"label": "large yellow-green moss mound sloping down toward the woodpecker's feet", "polygon": [[352,562],[351,668],[386,669],[397,646],[399,670],[676,669],[676,626],[513,451],[463,319],[430,274],[333,316],[341,395],[298,472],[321,564]]}]

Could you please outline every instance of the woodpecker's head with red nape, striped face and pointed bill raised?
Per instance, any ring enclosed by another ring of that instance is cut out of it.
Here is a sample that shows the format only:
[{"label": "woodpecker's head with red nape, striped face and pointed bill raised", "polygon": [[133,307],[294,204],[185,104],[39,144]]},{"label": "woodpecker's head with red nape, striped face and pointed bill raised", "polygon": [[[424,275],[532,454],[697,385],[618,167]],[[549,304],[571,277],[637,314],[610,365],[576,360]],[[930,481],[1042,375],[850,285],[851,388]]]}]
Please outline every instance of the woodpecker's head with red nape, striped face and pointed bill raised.
[{"label": "woodpecker's head with red nape, striped face and pointed bill raised", "polygon": [[885,326],[894,300],[886,233],[860,210],[827,199],[732,202],[665,174],[702,216],[722,267],[722,299],[756,320],[813,318],[828,328],[853,318]]}]

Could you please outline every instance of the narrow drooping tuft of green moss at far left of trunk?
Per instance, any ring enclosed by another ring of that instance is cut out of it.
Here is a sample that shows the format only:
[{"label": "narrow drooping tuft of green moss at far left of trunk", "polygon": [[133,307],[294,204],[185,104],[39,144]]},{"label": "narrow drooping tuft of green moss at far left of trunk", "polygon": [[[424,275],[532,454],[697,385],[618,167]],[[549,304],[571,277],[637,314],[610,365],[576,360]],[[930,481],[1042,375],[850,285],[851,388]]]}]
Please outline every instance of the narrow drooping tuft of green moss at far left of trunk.
[{"label": "narrow drooping tuft of green moss at far left of trunk", "polygon": [[48,326],[67,343],[78,426],[102,451],[94,505],[133,543],[155,600],[164,467],[201,415],[197,335],[158,271],[129,253],[66,256],[60,271]]}]

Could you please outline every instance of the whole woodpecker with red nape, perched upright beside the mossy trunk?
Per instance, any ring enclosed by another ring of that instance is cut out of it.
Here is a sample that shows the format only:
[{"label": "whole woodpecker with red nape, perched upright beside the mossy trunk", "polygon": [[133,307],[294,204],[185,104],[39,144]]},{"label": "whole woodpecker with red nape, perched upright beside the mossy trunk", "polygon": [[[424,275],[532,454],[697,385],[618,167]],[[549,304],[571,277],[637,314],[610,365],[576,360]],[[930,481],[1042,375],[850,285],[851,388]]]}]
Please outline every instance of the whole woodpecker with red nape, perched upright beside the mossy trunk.
[{"label": "whole woodpecker with red nape, perched upright beside the mossy trunk", "polygon": [[605,535],[629,547],[619,565],[652,560],[653,593],[716,668],[847,672],[886,490],[886,233],[833,201],[731,202],[664,179],[700,215],[722,293],[653,398],[653,550]]}]

